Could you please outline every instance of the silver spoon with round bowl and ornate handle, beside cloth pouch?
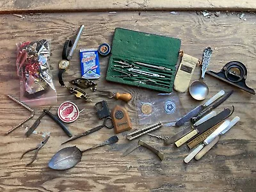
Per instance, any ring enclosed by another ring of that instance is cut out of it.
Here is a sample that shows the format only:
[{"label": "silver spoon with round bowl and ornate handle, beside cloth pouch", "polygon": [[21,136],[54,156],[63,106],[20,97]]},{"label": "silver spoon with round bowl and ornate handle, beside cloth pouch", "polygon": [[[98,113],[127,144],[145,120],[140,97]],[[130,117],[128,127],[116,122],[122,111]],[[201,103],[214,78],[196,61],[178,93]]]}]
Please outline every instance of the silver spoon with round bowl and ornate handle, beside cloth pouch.
[{"label": "silver spoon with round bowl and ornate handle, beside cloth pouch", "polygon": [[204,100],[209,93],[209,88],[207,84],[204,83],[204,75],[209,65],[209,62],[211,60],[211,55],[212,55],[212,49],[211,47],[207,47],[204,50],[204,55],[203,55],[202,76],[199,80],[194,81],[189,86],[189,93],[196,100]]}]

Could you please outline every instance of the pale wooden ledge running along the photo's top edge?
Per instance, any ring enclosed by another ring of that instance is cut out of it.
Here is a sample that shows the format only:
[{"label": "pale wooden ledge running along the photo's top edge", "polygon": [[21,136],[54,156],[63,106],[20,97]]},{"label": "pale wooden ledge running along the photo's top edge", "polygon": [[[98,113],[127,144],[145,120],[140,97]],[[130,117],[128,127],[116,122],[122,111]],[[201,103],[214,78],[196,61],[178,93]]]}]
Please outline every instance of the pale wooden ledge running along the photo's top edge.
[{"label": "pale wooden ledge running along the photo's top edge", "polygon": [[77,1],[77,0],[2,0],[0,13],[6,12],[81,12],[81,11],[120,11],[120,10],[221,10],[221,11],[255,11],[254,0],[172,0],[172,1],[127,1],[127,0],[100,0],[100,1]]}]

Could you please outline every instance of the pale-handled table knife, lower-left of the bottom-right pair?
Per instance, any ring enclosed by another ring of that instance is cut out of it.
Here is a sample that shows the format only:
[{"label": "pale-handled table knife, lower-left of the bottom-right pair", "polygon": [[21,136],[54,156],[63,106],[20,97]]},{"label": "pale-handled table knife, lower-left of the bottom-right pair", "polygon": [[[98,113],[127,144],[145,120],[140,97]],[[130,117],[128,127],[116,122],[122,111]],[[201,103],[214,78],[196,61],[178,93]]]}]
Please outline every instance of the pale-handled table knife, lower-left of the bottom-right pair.
[{"label": "pale-handled table knife, lower-left of the bottom-right pair", "polygon": [[196,154],[198,154],[198,152],[200,152],[200,150],[202,150],[202,148],[204,148],[205,145],[208,145],[212,140],[214,140],[214,138],[216,138],[216,136],[218,136],[220,134],[220,132],[222,132],[224,129],[226,129],[228,127],[228,125],[230,125],[230,121],[225,120],[225,122],[223,122],[223,124],[221,124],[220,127],[218,127],[214,132],[212,132],[212,134],[210,136],[208,136],[201,145],[198,145],[198,147],[196,147],[184,159],[184,162],[189,163],[189,161],[191,161],[196,156]]}]

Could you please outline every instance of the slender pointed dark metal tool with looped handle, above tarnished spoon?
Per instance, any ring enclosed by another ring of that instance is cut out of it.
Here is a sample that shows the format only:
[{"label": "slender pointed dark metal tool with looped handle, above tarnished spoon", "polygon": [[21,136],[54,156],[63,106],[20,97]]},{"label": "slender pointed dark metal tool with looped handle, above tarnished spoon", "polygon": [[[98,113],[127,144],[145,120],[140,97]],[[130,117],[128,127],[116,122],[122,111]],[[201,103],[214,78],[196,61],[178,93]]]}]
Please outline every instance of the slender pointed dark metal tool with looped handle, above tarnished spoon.
[{"label": "slender pointed dark metal tool with looped handle, above tarnished spoon", "polygon": [[61,143],[61,145],[64,144],[64,143],[68,143],[69,141],[74,141],[74,140],[76,140],[78,138],[81,138],[83,136],[86,136],[88,134],[91,134],[92,132],[99,131],[103,127],[107,127],[108,129],[112,129],[114,127],[113,122],[112,122],[112,118],[110,116],[108,116],[107,118],[104,119],[104,122],[103,122],[102,125],[99,125],[97,127],[94,127],[93,129],[89,129],[88,131],[77,134],[77,135],[73,136],[72,138],[70,138],[69,140],[64,141],[63,143]]}]

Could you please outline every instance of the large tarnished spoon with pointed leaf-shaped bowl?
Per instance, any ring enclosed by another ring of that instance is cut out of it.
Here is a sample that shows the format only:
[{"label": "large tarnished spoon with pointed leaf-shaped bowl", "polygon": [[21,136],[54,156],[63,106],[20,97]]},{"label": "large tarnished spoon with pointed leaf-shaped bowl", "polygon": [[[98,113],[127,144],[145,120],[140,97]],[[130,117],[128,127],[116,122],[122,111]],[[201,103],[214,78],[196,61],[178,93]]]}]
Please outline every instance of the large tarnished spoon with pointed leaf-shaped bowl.
[{"label": "large tarnished spoon with pointed leaf-shaped bowl", "polygon": [[108,138],[108,140],[103,141],[102,143],[93,147],[87,148],[86,150],[80,150],[76,146],[62,148],[51,158],[48,166],[54,170],[67,170],[81,161],[84,152],[92,150],[93,148],[111,145],[117,141],[117,136],[111,136],[111,138]]}]

